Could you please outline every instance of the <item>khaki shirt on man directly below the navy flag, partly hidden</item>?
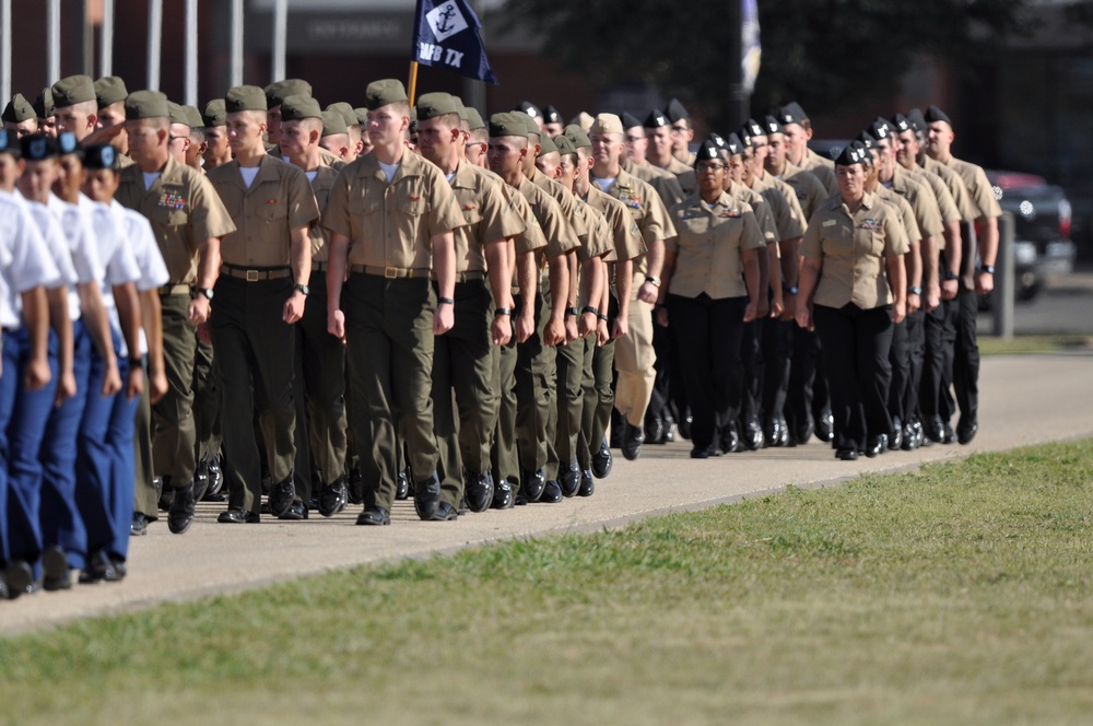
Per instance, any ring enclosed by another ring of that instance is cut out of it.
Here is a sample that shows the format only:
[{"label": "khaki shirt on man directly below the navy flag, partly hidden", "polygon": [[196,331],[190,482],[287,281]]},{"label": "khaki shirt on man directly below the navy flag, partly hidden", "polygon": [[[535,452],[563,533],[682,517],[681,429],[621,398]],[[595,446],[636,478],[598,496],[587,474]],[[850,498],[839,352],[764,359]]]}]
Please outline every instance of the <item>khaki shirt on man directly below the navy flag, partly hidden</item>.
[{"label": "khaki shirt on man directly below the navy flag, partly hidden", "polygon": [[455,232],[456,272],[485,272],[485,246],[514,237],[527,225],[509,204],[503,184],[484,169],[461,163],[450,184],[466,223]]}]

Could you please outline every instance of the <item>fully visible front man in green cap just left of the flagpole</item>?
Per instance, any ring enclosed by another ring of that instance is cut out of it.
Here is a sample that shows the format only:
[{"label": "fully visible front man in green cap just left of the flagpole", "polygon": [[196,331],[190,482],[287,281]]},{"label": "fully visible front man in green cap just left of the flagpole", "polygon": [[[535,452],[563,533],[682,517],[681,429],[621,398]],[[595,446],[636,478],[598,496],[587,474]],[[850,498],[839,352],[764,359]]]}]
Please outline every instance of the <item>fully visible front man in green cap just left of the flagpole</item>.
[{"label": "fully visible front man in green cap just left of the flagpole", "polygon": [[430,390],[434,337],[455,323],[453,231],[466,220],[444,174],[407,152],[402,83],[374,81],[365,95],[374,148],[339,173],[322,218],[330,231],[327,326],[348,346],[351,426],[364,477],[356,522],[390,524],[400,436],[418,516],[450,519],[455,512],[440,507]]}]

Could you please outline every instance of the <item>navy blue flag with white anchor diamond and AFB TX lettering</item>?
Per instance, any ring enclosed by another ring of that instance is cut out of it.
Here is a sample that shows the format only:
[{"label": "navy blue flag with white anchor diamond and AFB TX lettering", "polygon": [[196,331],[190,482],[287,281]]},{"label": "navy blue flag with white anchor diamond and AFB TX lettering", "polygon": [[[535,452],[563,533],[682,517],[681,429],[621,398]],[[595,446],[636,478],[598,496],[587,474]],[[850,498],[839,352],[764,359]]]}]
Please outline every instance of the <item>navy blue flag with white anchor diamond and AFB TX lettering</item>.
[{"label": "navy blue flag with white anchor diamond and AFB TX lettering", "polygon": [[418,0],[413,22],[413,58],[423,66],[439,66],[460,75],[496,83],[485,46],[482,24],[465,0]]}]

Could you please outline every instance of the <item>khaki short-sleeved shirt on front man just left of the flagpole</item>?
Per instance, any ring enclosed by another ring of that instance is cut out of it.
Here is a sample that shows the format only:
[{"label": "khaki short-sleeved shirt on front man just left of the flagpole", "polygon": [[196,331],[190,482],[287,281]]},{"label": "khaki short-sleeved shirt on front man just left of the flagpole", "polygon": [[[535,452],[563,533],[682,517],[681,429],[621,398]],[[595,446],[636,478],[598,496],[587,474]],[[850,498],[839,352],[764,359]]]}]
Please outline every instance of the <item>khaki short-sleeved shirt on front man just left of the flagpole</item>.
[{"label": "khaki short-sleeved shirt on front man just left of the flagpole", "polygon": [[423,270],[432,268],[433,236],[465,220],[440,169],[407,151],[390,184],[374,154],[346,164],[322,224],[349,237],[350,265]]}]

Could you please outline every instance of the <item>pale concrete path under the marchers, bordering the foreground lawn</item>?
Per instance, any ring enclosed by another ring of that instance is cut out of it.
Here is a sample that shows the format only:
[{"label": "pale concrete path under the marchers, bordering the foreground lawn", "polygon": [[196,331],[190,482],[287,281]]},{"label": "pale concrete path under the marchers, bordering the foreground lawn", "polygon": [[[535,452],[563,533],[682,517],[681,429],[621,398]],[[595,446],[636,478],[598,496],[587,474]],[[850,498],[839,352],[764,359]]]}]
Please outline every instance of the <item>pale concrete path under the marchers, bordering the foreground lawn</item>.
[{"label": "pale concrete path under the marchers, bordering the foreground lawn", "polygon": [[[399,502],[390,527],[356,527],[360,507],[324,519],[261,525],[218,525],[221,504],[200,504],[189,532],[176,537],[164,519],[133,538],[129,576],[119,584],[74,585],[0,602],[0,634],[46,628],[78,618],[153,607],[163,601],[261,587],[299,575],[406,557],[427,557],[512,539],[600,529],[667,512],[778,491],[787,485],[837,483],[867,471],[895,471],[1062,438],[1093,436],[1093,352],[997,356],[980,374],[979,434],[969,446],[894,452],[875,459],[835,460],[813,441],[695,461],[690,444],[646,446],[638,461],[615,456],[614,470],[595,496],[561,504],[490,511],[453,523],[418,520]],[[953,421],[955,424],[955,421]]]}]

